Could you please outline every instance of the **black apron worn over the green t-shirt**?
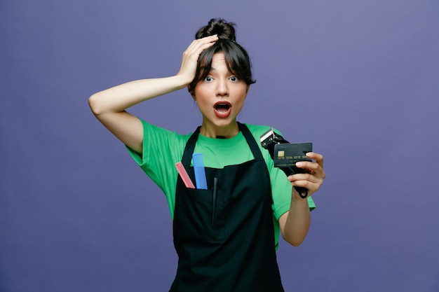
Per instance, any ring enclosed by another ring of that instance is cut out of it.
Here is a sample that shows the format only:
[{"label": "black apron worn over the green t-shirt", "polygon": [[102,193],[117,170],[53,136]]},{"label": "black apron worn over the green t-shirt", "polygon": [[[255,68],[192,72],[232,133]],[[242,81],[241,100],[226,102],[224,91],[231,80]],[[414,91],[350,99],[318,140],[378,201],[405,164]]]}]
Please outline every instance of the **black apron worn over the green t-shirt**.
[{"label": "black apron worn over the green t-shirt", "polygon": [[[178,176],[173,235],[179,260],[172,292],[283,291],[269,172],[248,127],[238,127],[254,160],[223,169],[205,167],[208,190],[186,188]],[[192,181],[194,167],[189,165],[199,132],[200,127],[182,157]]]}]

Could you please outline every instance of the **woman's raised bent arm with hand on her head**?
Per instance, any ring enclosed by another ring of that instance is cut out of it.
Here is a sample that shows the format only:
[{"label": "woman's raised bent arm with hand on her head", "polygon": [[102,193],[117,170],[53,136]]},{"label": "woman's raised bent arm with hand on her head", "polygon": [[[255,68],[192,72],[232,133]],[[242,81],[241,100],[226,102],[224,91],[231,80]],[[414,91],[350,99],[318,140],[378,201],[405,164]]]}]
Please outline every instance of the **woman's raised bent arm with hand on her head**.
[{"label": "woman's raised bent arm with hand on her head", "polygon": [[126,109],[189,85],[195,77],[199,55],[215,41],[216,35],[193,41],[184,51],[180,71],[175,76],[132,81],[95,93],[88,99],[91,111],[123,144],[142,153],[142,123]]}]

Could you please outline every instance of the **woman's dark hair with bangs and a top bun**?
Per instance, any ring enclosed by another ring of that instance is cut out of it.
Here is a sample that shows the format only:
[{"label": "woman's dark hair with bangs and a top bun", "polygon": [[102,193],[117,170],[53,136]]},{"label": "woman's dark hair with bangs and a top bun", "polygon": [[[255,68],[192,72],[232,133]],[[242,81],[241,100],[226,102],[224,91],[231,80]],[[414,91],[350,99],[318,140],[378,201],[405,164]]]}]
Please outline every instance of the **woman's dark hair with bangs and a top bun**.
[{"label": "woman's dark hair with bangs and a top bun", "polygon": [[206,36],[218,35],[218,41],[213,46],[207,48],[198,57],[198,64],[194,80],[189,84],[189,92],[193,93],[196,84],[206,78],[212,67],[212,56],[215,53],[223,53],[226,60],[227,69],[250,85],[255,83],[252,79],[252,64],[247,51],[236,43],[234,23],[226,22],[222,19],[212,18],[208,25],[198,29],[195,39],[202,39]]}]

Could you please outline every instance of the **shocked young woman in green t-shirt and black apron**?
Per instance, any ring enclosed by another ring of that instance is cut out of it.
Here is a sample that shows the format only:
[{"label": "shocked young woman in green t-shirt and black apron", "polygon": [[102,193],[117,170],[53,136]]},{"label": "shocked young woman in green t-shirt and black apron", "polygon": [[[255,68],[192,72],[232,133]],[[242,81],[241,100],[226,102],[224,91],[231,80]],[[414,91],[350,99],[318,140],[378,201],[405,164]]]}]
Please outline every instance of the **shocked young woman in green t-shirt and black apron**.
[{"label": "shocked young woman in green t-shirt and black apron", "polygon": [[[90,108],[163,190],[179,256],[170,291],[283,291],[276,262],[279,232],[298,246],[310,224],[311,195],[323,183],[323,156],[299,162],[286,177],[259,144],[268,126],[238,123],[252,80],[250,58],[234,24],[212,19],[184,51],[175,76],[138,80],[92,95]],[[203,115],[191,134],[151,125],[126,111],[147,99],[188,88]],[[192,154],[202,153],[207,189],[188,188]],[[164,165],[164,166],[163,166]],[[309,190],[307,199],[295,188]]]}]

